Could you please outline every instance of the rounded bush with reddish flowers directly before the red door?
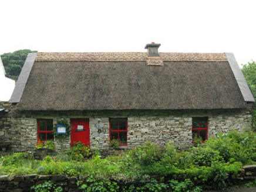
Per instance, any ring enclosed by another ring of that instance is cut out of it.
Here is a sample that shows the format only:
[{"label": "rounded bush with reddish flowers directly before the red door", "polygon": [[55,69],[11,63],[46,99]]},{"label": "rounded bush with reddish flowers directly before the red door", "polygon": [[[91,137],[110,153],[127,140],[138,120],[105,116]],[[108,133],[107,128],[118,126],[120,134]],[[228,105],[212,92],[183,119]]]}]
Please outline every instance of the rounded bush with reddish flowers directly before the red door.
[{"label": "rounded bush with reddish flowers directly before the red door", "polygon": [[72,160],[83,161],[83,158],[91,155],[90,146],[86,146],[85,143],[80,141],[74,142],[74,145],[70,148],[68,155],[71,156]]}]

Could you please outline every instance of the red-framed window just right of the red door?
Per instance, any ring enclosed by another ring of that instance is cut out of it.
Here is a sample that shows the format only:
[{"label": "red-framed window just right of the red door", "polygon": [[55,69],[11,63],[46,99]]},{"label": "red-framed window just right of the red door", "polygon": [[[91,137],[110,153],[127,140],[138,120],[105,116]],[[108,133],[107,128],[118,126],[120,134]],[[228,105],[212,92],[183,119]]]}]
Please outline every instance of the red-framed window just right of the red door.
[{"label": "red-framed window just right of the red door", "polygon": [[120,145],[127,145],[127,118],[109,118],[110,140],[118,139]]}]

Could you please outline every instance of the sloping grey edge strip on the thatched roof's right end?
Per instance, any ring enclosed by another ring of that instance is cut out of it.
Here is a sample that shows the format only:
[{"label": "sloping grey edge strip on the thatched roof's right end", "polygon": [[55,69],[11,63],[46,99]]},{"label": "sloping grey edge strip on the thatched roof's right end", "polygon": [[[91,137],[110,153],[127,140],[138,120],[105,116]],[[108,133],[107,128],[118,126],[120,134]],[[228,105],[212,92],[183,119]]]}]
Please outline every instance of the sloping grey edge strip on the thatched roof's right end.
[{"label": "sloping grey edge strip on the thatched roof's right end", "polygon": [[227,57],[228,63],[230,64],[230,67],[233,71],[235,79],[237,80],[237,84],[242,93],[242,97],[244,97],[244,101],[255,102],[254,97],[251,93],[251,90],[244,78],[244,75],[242,74],[242,71],[240,70],[238,63],[235,60],[234,54],[233,53],[225,53],[225,56]]}]

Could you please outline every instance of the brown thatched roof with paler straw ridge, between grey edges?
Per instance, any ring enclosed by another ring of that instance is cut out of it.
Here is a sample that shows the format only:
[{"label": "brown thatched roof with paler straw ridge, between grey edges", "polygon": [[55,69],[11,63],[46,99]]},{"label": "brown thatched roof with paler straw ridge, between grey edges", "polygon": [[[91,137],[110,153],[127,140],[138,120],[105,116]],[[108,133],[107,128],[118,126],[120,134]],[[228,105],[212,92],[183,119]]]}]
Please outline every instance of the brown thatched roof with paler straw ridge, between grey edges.
[{"label": "brown thatched roof with paler straw ridge, between grey edges", "polygon": [[[160,56],[156,59],[146,53],[37,53],[21,100],[16,100],[17,108],[247,108],[224,53]],[[157,62],[161,62],[160,66]]]}]

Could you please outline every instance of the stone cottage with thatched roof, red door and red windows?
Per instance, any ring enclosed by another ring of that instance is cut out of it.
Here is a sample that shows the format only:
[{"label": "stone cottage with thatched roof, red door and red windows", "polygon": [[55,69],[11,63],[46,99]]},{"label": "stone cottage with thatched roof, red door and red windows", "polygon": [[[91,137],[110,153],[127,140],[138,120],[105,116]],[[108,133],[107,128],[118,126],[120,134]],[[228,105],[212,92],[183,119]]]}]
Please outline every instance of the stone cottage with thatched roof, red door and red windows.
[{"label": "stone cottage with thatched roof, red door and red windows", "polygon": [[[232,53],[29,53],[10,102],[13,149],[54,139],[53,125],[73,126],[100,149],[146,141],[190,146],[231,129],[250,129],[251,91]],[[58,140],[55,140],[58,145]],[[58,145],[60,148],[60,145]]]}]

